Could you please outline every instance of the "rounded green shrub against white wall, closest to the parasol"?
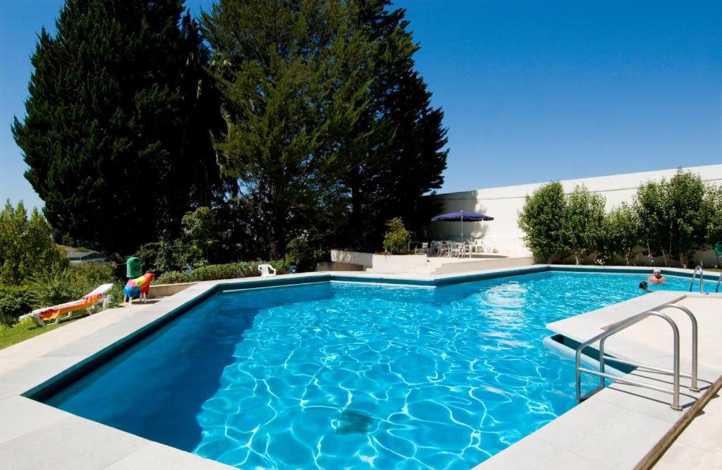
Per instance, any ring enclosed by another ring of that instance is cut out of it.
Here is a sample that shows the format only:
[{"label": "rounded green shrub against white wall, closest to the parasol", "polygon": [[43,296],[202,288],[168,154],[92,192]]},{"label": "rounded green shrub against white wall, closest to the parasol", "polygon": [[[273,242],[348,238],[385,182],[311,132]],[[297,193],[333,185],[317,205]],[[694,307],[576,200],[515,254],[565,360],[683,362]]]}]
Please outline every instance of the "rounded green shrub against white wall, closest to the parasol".
[{"label": "rounded green shrub against white wall, closest to the parasol", "polygon": [[534,256],[563,260],[570,254],[569,225],[564,188],[559,181],[537,188],[526,196],[518,224],[526,234],[523,238]]}]

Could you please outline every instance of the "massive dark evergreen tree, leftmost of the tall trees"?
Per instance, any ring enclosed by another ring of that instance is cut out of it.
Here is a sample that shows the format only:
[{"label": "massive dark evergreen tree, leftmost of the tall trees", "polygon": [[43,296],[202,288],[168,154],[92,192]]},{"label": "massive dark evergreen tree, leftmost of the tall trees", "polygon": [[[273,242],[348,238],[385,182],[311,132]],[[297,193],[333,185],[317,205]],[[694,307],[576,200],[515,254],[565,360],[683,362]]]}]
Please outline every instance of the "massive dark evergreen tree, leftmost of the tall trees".
[{"label": "massive dark evergreen tree, leftmost of the tall trees", "polygon": [[183,0],[66,0],[41,30],[25,177],[57,229],[110,255],[173,235],[219,184],[199,93],[208,53]]}]

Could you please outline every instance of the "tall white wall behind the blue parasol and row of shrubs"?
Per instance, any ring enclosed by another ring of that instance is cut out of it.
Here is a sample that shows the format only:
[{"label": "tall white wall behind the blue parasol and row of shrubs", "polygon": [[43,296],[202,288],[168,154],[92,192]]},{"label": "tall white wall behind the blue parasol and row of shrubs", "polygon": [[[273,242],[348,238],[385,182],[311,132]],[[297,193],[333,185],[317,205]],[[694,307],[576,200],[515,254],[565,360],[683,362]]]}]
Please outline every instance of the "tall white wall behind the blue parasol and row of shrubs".
[{"label": "tall white wall behind the blue parasol and row of shrubs", "polygon": [[[699,174],[705,182],[722,183],[722,165],[688,167]],[[565,191],[570,192],[575,186],[585,185],[589,191],[601,193],[606,199],[606,208],[611,209],[622,201],[631,202],[637,188],[649,180],[669,180],[677,169],[648,171],[644,173],[627,173],[624,175],[601,176],[598,178],[580,178],[578,180],[561,181]],[[479,180],[483,173],[479,173]],[[469,211],[480,212],[494,217],[491,222],[464,222],[464,238],[484,238],[491,245],[496,245],[500,253],[529,254],[523,245],[523,232],[517,224],[517,214],[524,204],[525,196],[546,183],[523,184],[519,186],[503,186],[500,188],[478,189],[460,193],[444,193],[434,197],[443,203],[442,212]],[[460,222],[431,222],[424,238],[431,240],[459,240],[461,238]]]}]

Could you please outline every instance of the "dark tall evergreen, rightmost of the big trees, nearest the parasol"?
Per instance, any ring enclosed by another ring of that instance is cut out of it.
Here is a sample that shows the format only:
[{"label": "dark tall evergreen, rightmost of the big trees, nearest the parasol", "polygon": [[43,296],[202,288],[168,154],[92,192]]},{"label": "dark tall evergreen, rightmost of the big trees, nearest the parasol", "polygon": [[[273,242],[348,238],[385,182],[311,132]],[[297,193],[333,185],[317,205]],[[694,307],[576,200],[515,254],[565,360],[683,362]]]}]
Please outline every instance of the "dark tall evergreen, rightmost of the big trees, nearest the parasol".
[{"label": "dark tall evergreen, rightmost of the big trees, nearest the parasol", "polygon": [[374,44],[366,68],[371,99],[360,119],[371,138],[350,149],[343,178],[352,209],[347,244],[355,248],[378,248],[393,217],[413,228],[425,225],[438,206],[423,196],[441,187],[448,155],[443,111],[432,107],[431,92],[414,69],[419,45],[407,29],[405,10],[389,11],[390,4],[349,2]]}]

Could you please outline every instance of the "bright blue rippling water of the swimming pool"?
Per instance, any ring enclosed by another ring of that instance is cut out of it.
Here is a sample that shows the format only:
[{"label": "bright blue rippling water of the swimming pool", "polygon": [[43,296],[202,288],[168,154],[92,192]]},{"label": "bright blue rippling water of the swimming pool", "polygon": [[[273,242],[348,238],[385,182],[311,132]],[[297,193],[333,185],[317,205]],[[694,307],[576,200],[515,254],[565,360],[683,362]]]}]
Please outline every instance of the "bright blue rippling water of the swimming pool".
[{"label": "bright blue rippling water of the swimming pool", "polygon": [[574,405],[544,325],[643,278],[219,293],[47,402],[243,469],[469,469]]}]

